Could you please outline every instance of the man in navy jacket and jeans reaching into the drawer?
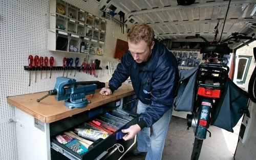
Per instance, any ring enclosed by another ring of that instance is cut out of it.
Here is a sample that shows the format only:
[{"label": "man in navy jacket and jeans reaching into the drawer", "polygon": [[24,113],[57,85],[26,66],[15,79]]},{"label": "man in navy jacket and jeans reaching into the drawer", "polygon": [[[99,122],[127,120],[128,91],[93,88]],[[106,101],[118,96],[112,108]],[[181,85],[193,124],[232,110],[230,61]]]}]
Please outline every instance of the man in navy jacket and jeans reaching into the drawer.
[{"label": "man in navy jacket and jeans reaching into the drawer", "polygon": [[[146,153],[147,160],[160,160],[173,111],[173,100],[179,79],[177,60],[166,47],[154,39],[153,29],[145,24],[135,24],[127,34],[129,50],[101,95],[111,95],[122,83],[131,78],[139,99],[138,124],[122,132],[125,141],[137,134],[135,155]],[[153,133],[150,133],[152,126]]]}]

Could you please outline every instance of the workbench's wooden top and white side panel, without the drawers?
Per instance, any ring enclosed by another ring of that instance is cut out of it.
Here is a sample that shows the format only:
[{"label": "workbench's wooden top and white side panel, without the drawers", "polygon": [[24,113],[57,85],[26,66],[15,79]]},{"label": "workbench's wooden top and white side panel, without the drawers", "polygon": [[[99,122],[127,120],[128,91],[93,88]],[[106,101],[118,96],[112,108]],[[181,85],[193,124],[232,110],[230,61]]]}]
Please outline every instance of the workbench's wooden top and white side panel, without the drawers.
[{"label": "workbench's wooden top and white side panel, without the drawers", "polygon": [[120,100],[117,102],[121,105],[122,98],[134,95],[133,87],[125,84],[109,96],[102,96],[99,91],[100,89],[95,90],[93,98],[90,99],[91,103],[86,107],[74,109],[66,107],[63,100],[56,101],[55,96],[36,102],[36,99],[47,95],[48,92],[7,97],[7,102],[15,107],[15,117],[11,121],[16,122],[18,159],[50,160],[51,124],[65,121],[117,100]]}]

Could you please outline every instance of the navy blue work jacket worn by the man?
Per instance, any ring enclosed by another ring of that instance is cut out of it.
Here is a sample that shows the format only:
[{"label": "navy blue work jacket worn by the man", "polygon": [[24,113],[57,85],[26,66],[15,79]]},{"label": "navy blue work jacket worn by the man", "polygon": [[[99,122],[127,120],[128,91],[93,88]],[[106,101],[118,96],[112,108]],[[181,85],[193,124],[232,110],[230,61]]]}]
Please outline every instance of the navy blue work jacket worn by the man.
[{"label": "navy blue work jacket worn by the man", "polygon": [[109,81],[111,90],[116,90],[129,77],[138,99],[151,105],[139,116],[139,126],[150,127],[173,106],[179,80],[177,60],[155,40],[152,54],[146,62],[137,63],[129,50],[125,52]]}]

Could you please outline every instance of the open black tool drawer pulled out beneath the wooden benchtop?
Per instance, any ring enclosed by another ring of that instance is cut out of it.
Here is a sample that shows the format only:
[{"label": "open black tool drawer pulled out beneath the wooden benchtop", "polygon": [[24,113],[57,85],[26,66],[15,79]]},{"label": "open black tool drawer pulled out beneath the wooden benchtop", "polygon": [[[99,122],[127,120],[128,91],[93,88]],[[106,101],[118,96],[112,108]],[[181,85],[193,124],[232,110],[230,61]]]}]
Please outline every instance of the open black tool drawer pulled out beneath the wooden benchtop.
[{"label": "open black tool drawer pulled out beneath the wooden benchtop", "polygon": [[[109,116],[105,114],[106,112],[113,115],[115,113],[113,110],[116,110],[116,108],[119,107],[119,104],[120,100],[117,100],[95,109],[79,113],[78,115],[51,123],[51,159],[120,159],[136,142],[136,138],[129,141],[122,140],[123,133],[121,132],[121,129],[137,123],[136,117],[138,115],[135,113],[127,112],[130,117],[129,120],[126,119],[122,126],[119,124],[118,129],[109,134],[107,138],[94,141],[85,153],[78,154],[56,140],[56,135],[61,132],[63,133],[67,130],[72,130],[77,126],[83,126],[85,122],[91,121],[92,119],[104,119],[104,117]],[[122,114],[118,113],[114,117],[118,117],[120,119],[125,118],[125,116],[123,117]]]}]

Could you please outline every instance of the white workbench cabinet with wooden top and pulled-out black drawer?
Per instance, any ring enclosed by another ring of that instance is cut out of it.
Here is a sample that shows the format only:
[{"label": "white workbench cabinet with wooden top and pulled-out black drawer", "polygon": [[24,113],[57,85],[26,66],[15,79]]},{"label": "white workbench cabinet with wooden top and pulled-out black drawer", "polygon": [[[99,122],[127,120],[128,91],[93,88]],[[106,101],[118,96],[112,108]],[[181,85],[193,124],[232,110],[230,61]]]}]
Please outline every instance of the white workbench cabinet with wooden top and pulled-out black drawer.
[{"label": "white workbench cabinet with wooden top and pulled-out black drawer", "polygon": [[[93,117],[102,115],[106,111],[122,106],[123,98],[134,95],[132,86],[122,85],[113,95],[102,96],[100,89],[95,90],[91,104],[82,108],[69,109],[64,101],[56,101],[55,96],[49,96],[40,103],[36,99],[44,96],[44,93],[35,93],[7,97],[7,102],[14,106],[15,117],[10,120],[16,123],[17,154],[18,159],[26,160],[55,160],[55,159],[119,159],[135,143],[134,140],[116,140],[116,134],[122,128],[112,133],[108,138],[94,145],[86,154],[74,154],[68,148],[55,143],[53,138],[59,132],[73,128]],[[137,122],[134,118],[125,126]],[[125,127],[124,126],[124,127]],[[121,144],[124,152],[120,153],[114,144]],[[113,148],[111,148],[114,146]],[[109,149],[111,148],[111,149]],[[109,150],[108,150],[109,149]],[[99,155],[104,154],[102,158]]]}]

